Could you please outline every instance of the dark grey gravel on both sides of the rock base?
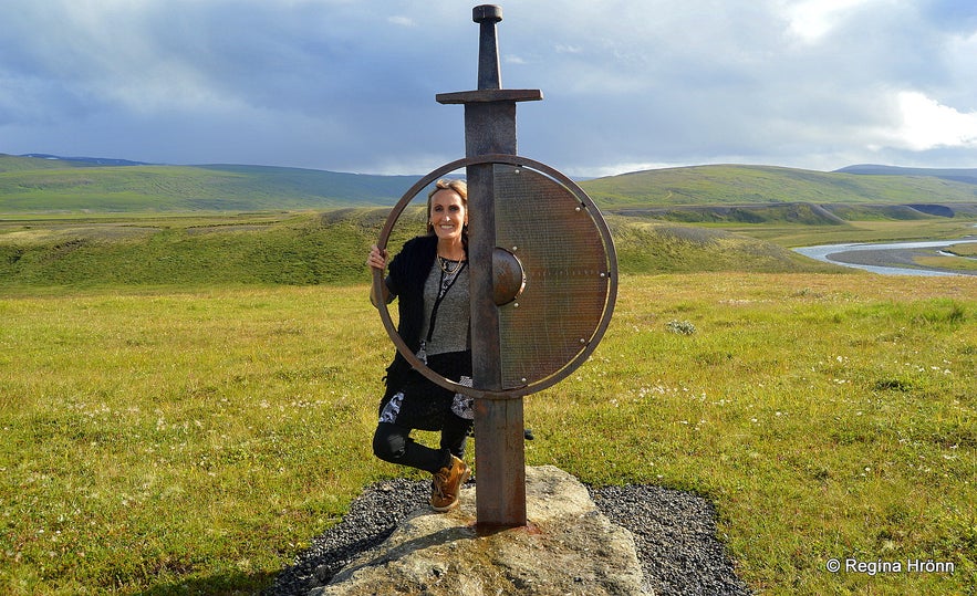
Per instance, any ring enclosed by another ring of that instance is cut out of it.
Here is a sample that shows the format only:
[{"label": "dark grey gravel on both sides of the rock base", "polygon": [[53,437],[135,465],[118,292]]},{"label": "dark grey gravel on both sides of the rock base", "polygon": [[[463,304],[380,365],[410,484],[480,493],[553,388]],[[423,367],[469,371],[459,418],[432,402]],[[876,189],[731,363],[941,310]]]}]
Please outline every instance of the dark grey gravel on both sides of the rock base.
[{"label": "dark grey gravel on both sides of the rock base", "polygon": [[[588,490],[612,522],[634,535],[645,583],[656,595],[750,594],[716,537],[716,512],[707,500],[647,484]],[[430,482],[422,480],[371,484],[340,523],[278,575],[266,596],[305,596],[357,554],[381,544],[409,513],[427,506],[429,491]]]}]

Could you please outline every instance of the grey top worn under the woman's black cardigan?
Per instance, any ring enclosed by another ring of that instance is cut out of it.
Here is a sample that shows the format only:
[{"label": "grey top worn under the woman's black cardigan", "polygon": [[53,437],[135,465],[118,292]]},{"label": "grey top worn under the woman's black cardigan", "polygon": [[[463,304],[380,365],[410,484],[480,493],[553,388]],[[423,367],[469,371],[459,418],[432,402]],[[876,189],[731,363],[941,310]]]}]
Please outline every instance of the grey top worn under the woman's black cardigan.
[{"label": "grey top worn under the woman's black cardigan", "polygon": [[[451,275],[445,273],[439,264],[440,259],[434,260],[434,266],[427,274],[427,281],[424,282],[424,325],[420,327],[420,338],[427,338],[428,327],[430,325],[430,312],[437,301],[438,290],[441,286],[441,280],[450,281]],[[459,266],[454,261],[447,261],[449,270]],[[444,278],[443,278],[444,275]],[[455,283],[448,289],[445,296],[438,305],[437,317],[435,318],[434,335],[426,345],[426,352],[430,354],[445,354],[447,352],[462,352],[470,348],[469,344],[469,320],[471,306],[468,302],[468,266],[461,269],[455,279]]]}]

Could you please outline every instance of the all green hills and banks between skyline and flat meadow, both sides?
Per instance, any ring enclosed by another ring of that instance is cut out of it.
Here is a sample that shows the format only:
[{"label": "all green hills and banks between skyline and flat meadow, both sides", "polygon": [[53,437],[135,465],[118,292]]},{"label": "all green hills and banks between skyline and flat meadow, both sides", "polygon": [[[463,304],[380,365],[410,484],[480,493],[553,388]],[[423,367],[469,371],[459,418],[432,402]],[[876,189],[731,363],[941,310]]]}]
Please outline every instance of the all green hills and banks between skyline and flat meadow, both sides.
[{"label": "all green hills and banks between skyline and flat meadow, both sides", "polygon": [[[363,254],[416,180],[0,156],[0,290],[364,282]],[[701,166],[581,186],[623,274],[838,271],[786,247],[957,237],[977,219],[977,186],[936,177]],[[408,210],[391,247],[422,228]]]}]

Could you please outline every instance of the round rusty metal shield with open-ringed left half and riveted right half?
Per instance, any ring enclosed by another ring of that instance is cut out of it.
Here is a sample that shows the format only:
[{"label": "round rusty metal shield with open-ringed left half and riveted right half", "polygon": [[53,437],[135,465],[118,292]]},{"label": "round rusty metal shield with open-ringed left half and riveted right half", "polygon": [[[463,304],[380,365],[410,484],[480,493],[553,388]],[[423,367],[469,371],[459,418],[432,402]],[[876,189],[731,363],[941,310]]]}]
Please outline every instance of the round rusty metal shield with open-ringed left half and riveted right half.
[{"label": "round rusty metal shield with open-ringed left half and riveted right half", "polygon": [[[512,399],[559,383],[597,347],[616,302],[617,260],[611,232],[590,197],[559,171],[515,155],[464,158],[432,171],[391,210],[377,245],[386,248],[396,221],[435,180],[481,165],[492,166],[495,176],[492,303],[500,306],[501,390],[466,387],[430,370],[396,334],[386,307],[380,311],[401,354],[427,378],[475,398]],[[501,252],[516,255],[524,274],[524,289],[509,302],[500,296],[511,294],[519,272],[513,263],[497,266]],[[382,282],[374,272],[376,291]]]}]

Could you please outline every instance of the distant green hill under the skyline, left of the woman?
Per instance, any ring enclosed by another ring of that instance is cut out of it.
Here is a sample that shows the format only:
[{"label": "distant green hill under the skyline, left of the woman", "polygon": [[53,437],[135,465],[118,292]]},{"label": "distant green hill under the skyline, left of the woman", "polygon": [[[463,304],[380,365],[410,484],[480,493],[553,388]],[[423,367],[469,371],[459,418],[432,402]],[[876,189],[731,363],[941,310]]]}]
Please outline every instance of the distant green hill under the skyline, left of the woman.
[{"label": "distant green hill under the skyline, left of the woman", "polygon": [[0,155],[0,213],[260,211],[393,205],[413,176],[267,166],[98,166]]}]

